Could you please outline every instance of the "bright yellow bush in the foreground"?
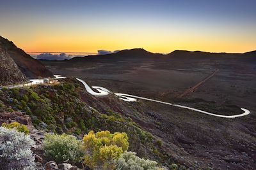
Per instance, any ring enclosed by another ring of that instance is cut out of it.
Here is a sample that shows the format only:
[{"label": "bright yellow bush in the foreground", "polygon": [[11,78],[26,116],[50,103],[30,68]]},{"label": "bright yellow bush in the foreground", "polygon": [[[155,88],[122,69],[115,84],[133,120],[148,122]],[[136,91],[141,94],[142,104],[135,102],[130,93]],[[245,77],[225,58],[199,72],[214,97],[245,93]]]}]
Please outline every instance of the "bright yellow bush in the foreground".
[{"label": "bright yellow bush in the foreground", "polygon": [[84,164],[90,168],[113,169],[114,160],[129,147],[125,133],[101,131],[96,134],[90,131],[83,138],[86,155]]}]

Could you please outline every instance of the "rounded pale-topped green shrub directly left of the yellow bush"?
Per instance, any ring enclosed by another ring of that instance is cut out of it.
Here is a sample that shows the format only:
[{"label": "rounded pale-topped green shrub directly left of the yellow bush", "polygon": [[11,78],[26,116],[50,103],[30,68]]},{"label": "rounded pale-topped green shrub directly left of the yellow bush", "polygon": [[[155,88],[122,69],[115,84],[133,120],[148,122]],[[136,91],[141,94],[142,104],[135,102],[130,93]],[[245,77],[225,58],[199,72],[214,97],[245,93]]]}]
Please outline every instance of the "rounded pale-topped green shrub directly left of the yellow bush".
[{"label": "rounded pale-topped green shrub directly left of the yellow bush", "polygon": [[66,160],[70,163],[77,163],[83,159],[82,142],[72,135],[46,134],[43,146],[45,157],[58,164]]}]

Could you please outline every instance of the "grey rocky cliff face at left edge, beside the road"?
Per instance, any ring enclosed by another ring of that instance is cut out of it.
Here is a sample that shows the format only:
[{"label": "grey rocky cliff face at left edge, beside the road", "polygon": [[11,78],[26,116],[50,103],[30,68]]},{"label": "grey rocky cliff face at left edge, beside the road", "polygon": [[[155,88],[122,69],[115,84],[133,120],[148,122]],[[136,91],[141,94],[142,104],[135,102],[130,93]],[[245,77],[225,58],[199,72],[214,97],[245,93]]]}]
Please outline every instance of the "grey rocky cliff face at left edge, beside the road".
[{"label": "grey rocky cliff face at left edge, beside the road", "polygon": [[10,54],[1,48],[0,42],[0,86],[24,83],[28,78],[20,71]]}]

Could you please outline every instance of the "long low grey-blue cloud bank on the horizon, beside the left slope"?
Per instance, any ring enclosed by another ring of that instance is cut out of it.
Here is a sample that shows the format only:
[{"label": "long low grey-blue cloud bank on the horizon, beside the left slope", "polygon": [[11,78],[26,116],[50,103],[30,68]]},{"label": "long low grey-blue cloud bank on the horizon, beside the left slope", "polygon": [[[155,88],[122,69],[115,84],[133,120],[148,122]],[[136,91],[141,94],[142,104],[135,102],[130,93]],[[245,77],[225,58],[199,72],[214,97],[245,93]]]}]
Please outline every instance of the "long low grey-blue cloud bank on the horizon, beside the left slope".
[{"label": "long low grey-blue cloud bank on the horizon, beside the left slope", "polygon": [[69,60],[73,55],[67,55],[66,53],[52,54],[52,53],[40,53],[36,56],[38,60]]}]

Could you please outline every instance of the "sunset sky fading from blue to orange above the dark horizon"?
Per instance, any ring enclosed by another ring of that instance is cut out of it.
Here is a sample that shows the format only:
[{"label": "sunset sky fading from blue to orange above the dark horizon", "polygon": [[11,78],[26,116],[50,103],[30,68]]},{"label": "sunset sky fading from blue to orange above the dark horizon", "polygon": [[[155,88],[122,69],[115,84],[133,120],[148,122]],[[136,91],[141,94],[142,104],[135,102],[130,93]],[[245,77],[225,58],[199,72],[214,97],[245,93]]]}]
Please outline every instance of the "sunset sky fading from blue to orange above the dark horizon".
[{"label": "sunset sky fading from blue to orange above the dark horizon", "polygon": [[0,36],[25,52],[256,50],[255,0],[0,0]]}]

